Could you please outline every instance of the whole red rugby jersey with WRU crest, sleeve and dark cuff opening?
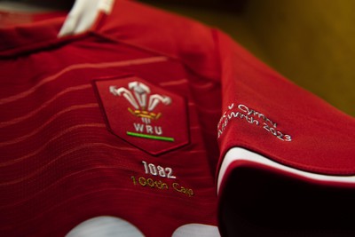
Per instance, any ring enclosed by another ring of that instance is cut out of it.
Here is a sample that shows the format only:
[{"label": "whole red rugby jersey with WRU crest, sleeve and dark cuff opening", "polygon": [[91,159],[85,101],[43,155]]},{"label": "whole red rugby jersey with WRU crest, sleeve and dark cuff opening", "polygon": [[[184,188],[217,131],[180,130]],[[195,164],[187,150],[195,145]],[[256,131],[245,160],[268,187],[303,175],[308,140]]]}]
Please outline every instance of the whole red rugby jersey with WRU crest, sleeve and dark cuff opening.
[{"label": "whole red rugby jersey with WRU crest, sleeve and dark cuff opening", "polygon": [[31,18],[0,29],[2,235],[353,233],[353,118],[142,4]]}]

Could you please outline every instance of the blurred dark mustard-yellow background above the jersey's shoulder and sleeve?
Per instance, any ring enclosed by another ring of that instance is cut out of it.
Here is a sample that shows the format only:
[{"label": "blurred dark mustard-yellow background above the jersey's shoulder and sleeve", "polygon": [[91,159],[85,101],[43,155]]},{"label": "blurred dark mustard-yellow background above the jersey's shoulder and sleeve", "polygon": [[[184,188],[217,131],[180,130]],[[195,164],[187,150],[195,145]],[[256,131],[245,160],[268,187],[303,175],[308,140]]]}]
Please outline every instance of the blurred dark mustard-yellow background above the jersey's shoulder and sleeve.
[{"label": "blurred dark mustard-yellow background above the jersey's shoulder and sleeve", "polygon": [[291,81],[355,116],[355,1],[140,1],[225,31]]}]

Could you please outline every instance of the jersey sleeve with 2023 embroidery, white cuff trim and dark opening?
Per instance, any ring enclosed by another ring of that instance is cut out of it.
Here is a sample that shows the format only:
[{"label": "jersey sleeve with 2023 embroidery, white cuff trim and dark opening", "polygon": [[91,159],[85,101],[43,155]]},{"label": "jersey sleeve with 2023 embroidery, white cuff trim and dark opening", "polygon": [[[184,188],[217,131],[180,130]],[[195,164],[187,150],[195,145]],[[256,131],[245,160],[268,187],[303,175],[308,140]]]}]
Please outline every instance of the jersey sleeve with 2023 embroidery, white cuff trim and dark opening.
[{"label": "jersey sleeve with 2023 embroidery, white cuff trim and dark opening", "polygon": [[221,233],[318,236],[349,229],[343,216],[355,209],[348,200],[355,186],[355,120],[223,33],[217,32],[217,45]]}]

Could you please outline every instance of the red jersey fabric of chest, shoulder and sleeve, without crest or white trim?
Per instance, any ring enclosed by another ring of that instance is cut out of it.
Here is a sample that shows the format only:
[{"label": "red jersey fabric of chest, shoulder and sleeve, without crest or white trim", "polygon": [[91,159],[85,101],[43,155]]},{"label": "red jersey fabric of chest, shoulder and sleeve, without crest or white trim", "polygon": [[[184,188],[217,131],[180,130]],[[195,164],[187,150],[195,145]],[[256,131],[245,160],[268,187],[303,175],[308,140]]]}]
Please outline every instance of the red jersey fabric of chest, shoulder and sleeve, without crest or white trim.
[{"label": "red jersey fabric of chest, shoulder and sleeve, without crest or white trim", "polygon": [[[4,236],[63,236],[98,216],[122,217],[148,237],[171,236],[190,223],[217,225],[218,157],[222,162],[233,146],[300,170],[355,173],[354,119],[217,30],[128,1],[116,1],[82,36],[58,39],[63,20],[0,29]],[[127,76],[185,99],[187,144],[152,155],[110,131],[94,85]],[[259,125],[245,117],[251,110]],[[217,130],[220,115],[230,112],[244,116],[228,124],[223,116]],[[277,123],[274,129],[292,141],[263,122]],[[176,178],[152,176],[144,162],[171,168]],[[139,178],[151,178],[155,187]]]}]

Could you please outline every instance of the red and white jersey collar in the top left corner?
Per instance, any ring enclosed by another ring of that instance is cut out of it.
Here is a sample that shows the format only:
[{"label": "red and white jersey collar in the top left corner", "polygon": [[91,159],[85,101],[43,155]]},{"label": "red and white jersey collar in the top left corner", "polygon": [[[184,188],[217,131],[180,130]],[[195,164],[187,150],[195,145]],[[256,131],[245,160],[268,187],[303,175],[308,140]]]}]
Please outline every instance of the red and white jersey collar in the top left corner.
[{"label": "red and white jersey collar in the top left corner", "polygon": [[114,0],[76,0],[67,12],[1,12],[0,57],[13,57],[83,35],[108,14]]}]

